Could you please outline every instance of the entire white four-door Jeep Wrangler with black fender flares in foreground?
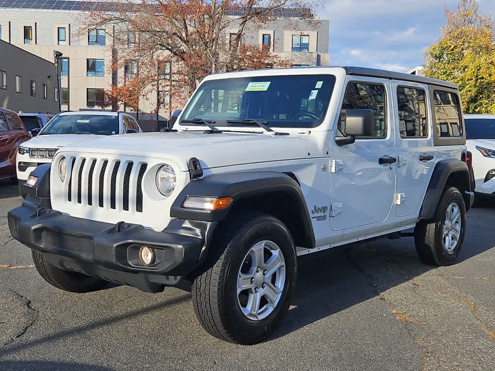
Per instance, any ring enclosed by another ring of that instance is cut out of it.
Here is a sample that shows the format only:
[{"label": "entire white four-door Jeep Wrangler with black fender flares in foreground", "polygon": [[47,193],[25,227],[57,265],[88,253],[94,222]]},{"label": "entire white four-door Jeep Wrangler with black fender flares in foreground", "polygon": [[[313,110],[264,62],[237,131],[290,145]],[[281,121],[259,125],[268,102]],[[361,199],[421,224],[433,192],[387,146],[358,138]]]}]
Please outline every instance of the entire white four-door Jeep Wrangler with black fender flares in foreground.
[{"label": "entire white four-door Jeep Wrangler with black fender flares in foreground", "polygon": [[[213,336],[262,341],[289,309],[297,256],[414,236],[449,265],[473,202],[455,85],[356,67],[204,79],[165,133],[67,145],[8,214],[63,290],[192,283]],[[405,232],[414,228],[414,233]]]}]

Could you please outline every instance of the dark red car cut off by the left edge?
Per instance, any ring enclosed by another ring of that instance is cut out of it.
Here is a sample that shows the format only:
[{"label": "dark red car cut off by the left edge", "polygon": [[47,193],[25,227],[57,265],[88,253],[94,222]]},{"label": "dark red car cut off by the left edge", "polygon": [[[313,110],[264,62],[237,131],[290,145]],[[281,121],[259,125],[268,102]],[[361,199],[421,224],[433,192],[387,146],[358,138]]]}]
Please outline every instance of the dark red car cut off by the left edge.
[{"label": "dark red car cut off by the left edge", "polygon": [[17,183],[15,155],[19,145],[31,139],[17,113],[0,107],[0,179]]}]

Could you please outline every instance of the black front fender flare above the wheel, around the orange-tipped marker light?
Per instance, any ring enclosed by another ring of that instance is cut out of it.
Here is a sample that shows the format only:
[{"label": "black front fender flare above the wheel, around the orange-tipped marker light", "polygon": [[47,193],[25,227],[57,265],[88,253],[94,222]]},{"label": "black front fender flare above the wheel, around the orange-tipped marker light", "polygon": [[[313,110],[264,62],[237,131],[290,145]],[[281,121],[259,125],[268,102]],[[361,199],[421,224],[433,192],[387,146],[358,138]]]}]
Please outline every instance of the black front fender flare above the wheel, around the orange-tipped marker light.
[{"label": "black front fender flare above the wheel, around the orange-tipped marker light", "polygon": [[[310,245],[315,246],[313,225],[301,187],[291,176],[275,171],[252,171],[205,176],[192,180],[175,199],[170,216],[178,219],[221,221],[240,200],[275,192],[288,192],[301,217],[302,228],[309,234]],[[231,205],[223,210],[195,210],[183,207],[187,196],[232,197]]]}]

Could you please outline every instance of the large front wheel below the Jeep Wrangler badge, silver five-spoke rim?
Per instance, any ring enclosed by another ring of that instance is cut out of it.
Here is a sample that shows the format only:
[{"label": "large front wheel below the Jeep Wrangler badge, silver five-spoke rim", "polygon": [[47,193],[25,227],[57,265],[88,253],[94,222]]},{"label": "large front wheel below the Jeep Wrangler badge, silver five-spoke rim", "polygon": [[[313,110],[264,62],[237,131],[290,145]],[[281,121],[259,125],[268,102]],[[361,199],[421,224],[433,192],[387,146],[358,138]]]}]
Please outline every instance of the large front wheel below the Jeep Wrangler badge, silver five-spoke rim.
[{"label": "large front wheel below the Jeep Wrangler badge, silver five-spoke rim", "polygon": [[[229,226],[216,232],[221,238],[215,240],[214,237],[208,251],[209,260],[202,274],[193,282],[193,303],[199,322],[211,335],[232,343],[255,344],[266,339],[289,310],[297,278],[296,248],[287,227],[272,216],[234,218]],[[261,251],[260,255],[256,251]],[[273,258],[276,256],[273,251],[280,252],[282,258],[280,255]],[[256,257],[263,259],[262,264],[256,263]],[[265,266],[270,262],[273,262],[271,267],[275,267],[276,259],[285,266],[271,275],[263,268],[270,269],[268,264]],[[259,272],[256,265],[261,266]],[[255,278],[245,279],[244,282],[249,280],[250,287],[238,294],[241,273],[247,278],[249,275]],[[283,277],[282,284],[279,279]],[[279,287],[279,291],[269,291],[271,287]],[[272,298],[278,295],[278,299],[272,301],[275,303],[273,309],[268,305],[269,293]],[[246,306],[245,311],[250,307],[249,297],[261,298],[255,306],[259,309],[256,314],[258,318],[252,318],[251,313],[243,313],[242,307]]]}]

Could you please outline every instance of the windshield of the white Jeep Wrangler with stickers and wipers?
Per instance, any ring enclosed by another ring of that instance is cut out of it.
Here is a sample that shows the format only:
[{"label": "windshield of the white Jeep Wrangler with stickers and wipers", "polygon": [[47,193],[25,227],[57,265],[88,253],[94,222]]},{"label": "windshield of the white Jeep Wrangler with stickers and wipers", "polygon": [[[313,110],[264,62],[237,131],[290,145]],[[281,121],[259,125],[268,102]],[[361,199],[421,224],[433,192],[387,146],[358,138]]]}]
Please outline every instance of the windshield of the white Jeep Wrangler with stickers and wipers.
[{"label": "windshield of the white Jeep Wrangler with stickers and wipers", "polygon": [[201,84],[181,120],[201,118],[215,121],[215,126],[244,126],[227,121],[256,120],[273,127],[314,128],[323,121],[334,85],[332,75],[210,80]]}]

